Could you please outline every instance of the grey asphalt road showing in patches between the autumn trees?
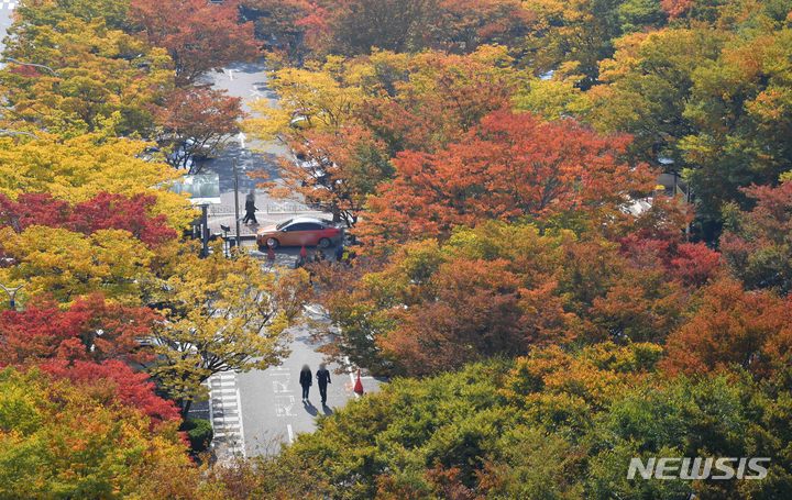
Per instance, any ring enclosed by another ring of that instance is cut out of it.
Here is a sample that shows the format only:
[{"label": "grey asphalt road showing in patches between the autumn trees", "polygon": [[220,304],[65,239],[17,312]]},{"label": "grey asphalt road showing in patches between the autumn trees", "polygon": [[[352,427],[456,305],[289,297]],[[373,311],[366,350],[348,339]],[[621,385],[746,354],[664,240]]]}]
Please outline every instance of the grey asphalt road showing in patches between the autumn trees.
[{"label": "grey asphalt road showing in patches between the autumn trees", "polygon": [[[262,64],[234,65],[207,75],[205,81],[227,90],[230,96],[242,98],[246,112],[251,111],[248,103],[253,100],[265,99],[270,105],[277,105],[277,96],[267,88],[267,76]],[[260,209],[256,216],[261,224],[307,214],[301,211],[299,200],[272,199],[263,190],[256,189],[256,180],[248,176],[248,173],[253,170],[265,170],[271,179],[277,180],[278,158],[288,154],[288,149],[282,144],[261,143],[240,136],[218,158],[207,162],[204,170],[216,171],[220,178],[222,202],[219,212],[233,210],[233,160],[237,159],[241,167],[240,199],[243,200],[244,195],[251,190],[255,192],[256,205]],[[223,224],[231,225],[234,219],[221,215],[212,221],[210,218],[210,227],[219,224],[220,220]],[[330,248],[328,253],[332,254],[333,249]],[[309,252],[312,253],[314,249]],[[276,264],[290,267],[298,254],[299,248],[278,248]],[[328,405],[321,405],[316,385],[311,388],[310,403],[302,403],[298,384],[299,371],[302,365],[308,365],[316,374],[323,360],[322,354],[317,351],[320,343],[316,336],[327,330],[327,319],[317,307],[306,309],[306,323],[288,331],[290,355],[279,366],[245,374],[222,374],[209,381],[210,416],[217,436],[216,453],[220,459],[234,454],[275,454],[283,443],[289,443],[297,434],[316,429],[318,418],[331,414],[336,408],[358,398],[352,390],[352,370],[328,365],[332,373],[332,384],[328,387]],[[366,392],[375,391],[378,384],[378,380],[364,374],[363,386]]]}]

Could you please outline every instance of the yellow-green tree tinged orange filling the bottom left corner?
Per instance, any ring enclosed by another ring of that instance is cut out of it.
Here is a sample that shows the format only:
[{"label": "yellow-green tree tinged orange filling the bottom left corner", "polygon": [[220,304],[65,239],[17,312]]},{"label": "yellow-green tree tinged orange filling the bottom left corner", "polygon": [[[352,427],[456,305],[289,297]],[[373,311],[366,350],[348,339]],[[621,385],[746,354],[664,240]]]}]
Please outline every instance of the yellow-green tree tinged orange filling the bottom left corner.
[{"label": "yellow-green tree tinged orange filling the bottom left corner", "polygon": [[8,368],[0,414],[0,496],[184,497],[197,484],[178,424],[152,427],[101,380]]}]

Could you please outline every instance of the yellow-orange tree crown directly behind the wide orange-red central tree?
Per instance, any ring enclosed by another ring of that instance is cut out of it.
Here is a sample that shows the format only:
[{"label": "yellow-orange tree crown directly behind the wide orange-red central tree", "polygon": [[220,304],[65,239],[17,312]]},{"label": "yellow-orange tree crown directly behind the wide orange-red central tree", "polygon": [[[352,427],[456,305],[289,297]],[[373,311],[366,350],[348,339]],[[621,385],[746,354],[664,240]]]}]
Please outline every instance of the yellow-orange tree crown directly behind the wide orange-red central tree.
[{"label": "yellow-orange tree crown directly behind the wide orange-red central tree", "polygon": [[465,55],[374,53],[359,69],[373,97],[360,120],[392,156],[408,149],[433,153],[459,141],[487,113],[510,107],[526,77],[513,64],[505,47],[490,45]]}]

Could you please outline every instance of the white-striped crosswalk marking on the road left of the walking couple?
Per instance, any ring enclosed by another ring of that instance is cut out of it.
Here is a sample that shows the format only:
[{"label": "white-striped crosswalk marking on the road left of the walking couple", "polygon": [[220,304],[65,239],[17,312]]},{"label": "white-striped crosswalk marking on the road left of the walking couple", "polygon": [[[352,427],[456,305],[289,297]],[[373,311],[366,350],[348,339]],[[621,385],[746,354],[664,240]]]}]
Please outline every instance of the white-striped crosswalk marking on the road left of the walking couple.
[{"label": "white-striped crosswalk marking on the road left of the walking couple", "polygon": [[245,457],[242,404],[237,374],[227,371],[211,376],[209,385],[209,418],[215,438],[212,447],[219,460]]}]

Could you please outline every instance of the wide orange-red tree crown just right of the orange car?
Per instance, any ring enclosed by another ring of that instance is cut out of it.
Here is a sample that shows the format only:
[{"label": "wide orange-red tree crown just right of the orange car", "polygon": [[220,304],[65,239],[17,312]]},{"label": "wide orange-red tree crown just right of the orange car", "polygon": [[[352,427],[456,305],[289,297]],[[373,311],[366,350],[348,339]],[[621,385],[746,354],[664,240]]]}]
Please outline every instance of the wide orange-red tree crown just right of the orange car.
[{"label": "wide orange-red tree crown just right of the orange car", "polygon": [[447,234],[484,219],[618,213],[651,189],[651,173],[622,156],[629,137],[603,137],[571,120],[499,111],[437,154],[405,152],[396,178],[370,201],[361,235],[375,243]]}]

